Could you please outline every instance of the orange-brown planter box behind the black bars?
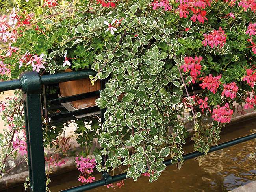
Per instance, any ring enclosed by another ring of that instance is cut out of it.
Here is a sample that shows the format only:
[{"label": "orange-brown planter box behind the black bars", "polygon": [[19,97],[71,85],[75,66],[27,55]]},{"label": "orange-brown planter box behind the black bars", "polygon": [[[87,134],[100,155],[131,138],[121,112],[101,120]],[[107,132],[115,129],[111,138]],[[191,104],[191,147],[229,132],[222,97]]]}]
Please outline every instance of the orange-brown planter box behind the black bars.
[{"label": "orange-brown planter box behind the black bars", "polygon": [[[67,68],[64,72],[70,72],[70,71],[72,70]],[[87,92],[93,92],[96,90],[100,90],[100,80],[98,79],[97,81],[95,81],[94,86],[91,85],[90,79],[67,81],[67,82],[59,83],[59,89],[61,92],[59,97],[67,97],[67,96],[73,96],[73,95],[87,93]],[[97,98],[99,98],[99,96],[77,100],[73,102],[68,102],[68,103],[62,103],[61,105],[63,105],[63,107],[65,107],[68,111],[74,111],[76,109],[84,109],[87,107],[97,106],[95,102],[95,99]],[[95,112],[93,114],[99,114],[99,113]],[[90,113],[85,116],[90,116],[93,114]],[[80,118],[80,117],[82,116],[79,116],[77,118]]]}]

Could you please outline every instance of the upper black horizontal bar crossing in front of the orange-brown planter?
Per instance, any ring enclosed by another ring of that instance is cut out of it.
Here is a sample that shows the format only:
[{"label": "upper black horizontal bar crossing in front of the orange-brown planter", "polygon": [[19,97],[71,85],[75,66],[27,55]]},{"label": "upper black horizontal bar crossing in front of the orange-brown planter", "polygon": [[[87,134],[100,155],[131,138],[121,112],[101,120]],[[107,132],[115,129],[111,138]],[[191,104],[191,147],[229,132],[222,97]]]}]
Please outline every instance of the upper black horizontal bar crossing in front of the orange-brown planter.
[{"label": "upper black horizontal bar crossing in front of the orange-brown planter", "polygon": [[82,93],[82,94],[78,94],[78,95],[62,97],[62,98],[58,98],[58,99],[53,99],[53,100],[50,100],[50,103],[52,105],[58,105],[61,103],[73,102],[73,101],[78,101],[78,100],[87,99],[87,98],[96,97],[96,96],[100,96],[100,90],[96,90],[96,91],[88,92],[88,93]]}]

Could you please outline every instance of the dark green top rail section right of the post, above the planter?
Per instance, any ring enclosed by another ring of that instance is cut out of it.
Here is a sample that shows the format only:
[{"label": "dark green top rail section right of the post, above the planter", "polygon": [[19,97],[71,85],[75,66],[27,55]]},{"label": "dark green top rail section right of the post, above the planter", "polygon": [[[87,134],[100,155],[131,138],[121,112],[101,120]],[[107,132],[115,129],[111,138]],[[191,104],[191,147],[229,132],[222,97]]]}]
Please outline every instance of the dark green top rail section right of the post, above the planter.
[{"label": "dark green top rail section right of the post, above the planter", "polygon": [[62,83],[65,81],[74,81],[79,79],[87,79],[89,75],[95,76],[97,72],[92,69],[81,70],[81,71],[71,71],[65,73],[57,73],[53,75],[43,75],[41,76],[42,85],[48,85],[53,83]]}]

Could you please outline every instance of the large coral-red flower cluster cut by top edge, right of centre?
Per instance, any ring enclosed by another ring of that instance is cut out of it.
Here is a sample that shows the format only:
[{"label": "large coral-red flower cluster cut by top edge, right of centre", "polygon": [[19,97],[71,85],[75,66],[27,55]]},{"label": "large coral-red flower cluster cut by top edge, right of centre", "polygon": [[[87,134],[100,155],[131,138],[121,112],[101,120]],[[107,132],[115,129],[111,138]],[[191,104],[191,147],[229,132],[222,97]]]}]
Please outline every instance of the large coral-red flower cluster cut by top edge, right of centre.
[{"label": "large coral-red flower cluster cut by top edge, right of centre", "polygon": [[176,0],[180,2],[180,6],[175,12],[179,11],[180,17],[187,18],[189,11],[193,12],[193,16],[190,18],[193,22],[198,20],[204,23],[204,20],[208,20],[205,16],[207,11],[204,11],[207,6],[211,7],[210,0]]}]

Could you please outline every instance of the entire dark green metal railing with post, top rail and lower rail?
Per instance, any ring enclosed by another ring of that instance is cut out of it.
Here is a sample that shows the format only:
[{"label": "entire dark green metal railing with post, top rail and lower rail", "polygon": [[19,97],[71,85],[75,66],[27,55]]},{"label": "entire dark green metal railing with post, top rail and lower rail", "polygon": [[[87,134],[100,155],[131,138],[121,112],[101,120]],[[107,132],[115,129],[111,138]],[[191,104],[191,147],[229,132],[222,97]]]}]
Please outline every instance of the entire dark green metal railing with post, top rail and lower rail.
[{"label": "entire dark green metal railing with post, top rail and lower rail", "polygon": [[[54,75],[39,76],[35,71],[23,72],[20,78],[17,80],[3,81],[0,82],[0,92],[7,90],[22,89],[23,101],[24,101],[24,116],[25,116],[25,127],[26,127],[26,138],[27,138],[27,151],[28,151],[28,167],[29,167],[29,177],[30,177],[30,188],[31,192],[46,192],[46,177],[45,177],[45,158],[44,158],[44,148],[43,148],[43,130],[42,130],[42,112],[41,112],[41,87],[44,85],[61,83],[65,81],[72,81],[78,79],[88,78],[89,75],[96,75],[93,70],[86,71],[75,71],[66,72]],[[101,90],[104,89],[105,82],[101,81]],[[93,93],[95,96],[97,93]],[[82,98],[91,97],[92,95],[81,95]],[[76,98],[76,96],[71,96],[68,98],[56,99],[53,103],[63,103],[74,99],[81,99],[81,97]],[[96,108],[91,108],[96,110]],[[87,111],[75,111],[67,112],[69,118],[75,116],[76,113],[88,113]],[[99,109],[97,109],[99,110]],[[105,109],[101,109],[101,116],[104,117]],[[58,118],[60,116],[56,116]],[[58,120],[56,120],[58,121]],[[102,118],[104,121],[104,118]],[[251,139],[256,138],[256,133],[252,135],[247,135],[245,137],[237,138],[228,142],[219,144],[218,146],[212,146],[209,153],[221,150],[223,148],[233,146]],[[198,151],[189,153],[183,156],[184,160],[192,159],[198,156],[204,155]],[[103,161],[104,162],[104,161]],[[171,159],[163,161],[165,165],[171,165]],[[83,192],[99,186],[104,186],[126,179],[126,173],[111,176],[106,172],[102,172],[102,179],[94,181],[92,183],[84,184],[62,192]]]}]

